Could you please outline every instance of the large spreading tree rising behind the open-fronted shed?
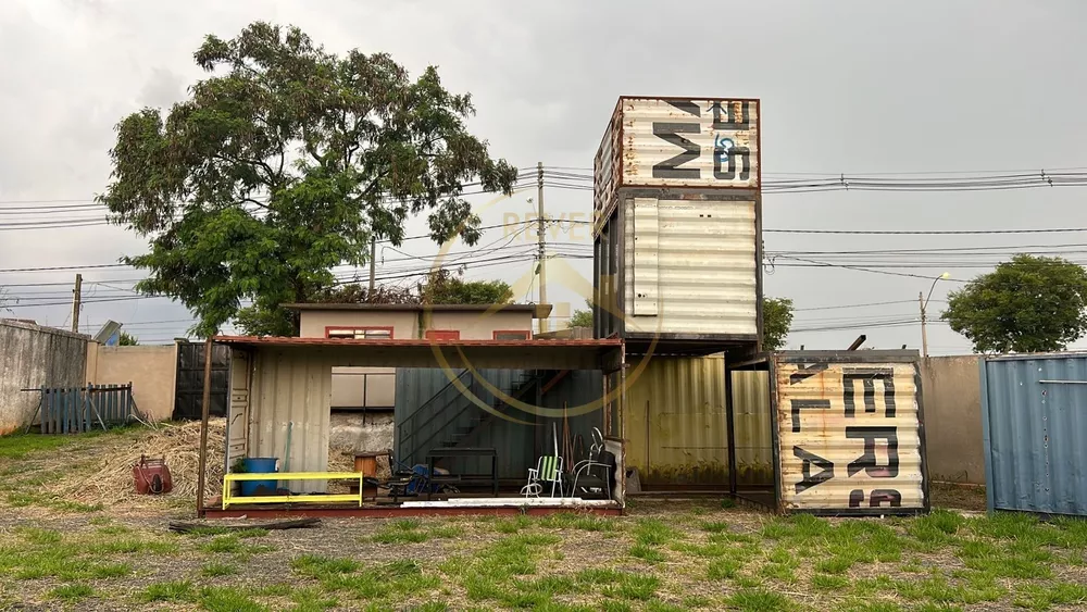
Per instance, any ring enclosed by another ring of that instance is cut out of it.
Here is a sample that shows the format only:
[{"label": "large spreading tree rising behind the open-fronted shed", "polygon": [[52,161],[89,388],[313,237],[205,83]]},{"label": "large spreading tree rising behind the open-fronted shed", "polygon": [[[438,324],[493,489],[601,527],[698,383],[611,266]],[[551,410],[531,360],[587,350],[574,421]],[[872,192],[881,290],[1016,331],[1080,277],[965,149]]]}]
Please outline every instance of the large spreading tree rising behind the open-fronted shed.
[{"label": "large spreading tree rising behind the open-fronted shed", "polygon": [[474,245],[465,184],[512,191],[516,168],[466,130],[470,97],[433,66],[411,79],[385,53],[337,57],[261,22],[208,36],[193,57],[210,76],[187,100],[117,124],[99,201],[149,238],[125,259],[150,273],[137,289],[180,300],[197,334],[236,320],[291,335],[279,304],[334,286],[333,266],[364,264],[372,237],[399,245],[408,216],[428,212],[433,240]]}]

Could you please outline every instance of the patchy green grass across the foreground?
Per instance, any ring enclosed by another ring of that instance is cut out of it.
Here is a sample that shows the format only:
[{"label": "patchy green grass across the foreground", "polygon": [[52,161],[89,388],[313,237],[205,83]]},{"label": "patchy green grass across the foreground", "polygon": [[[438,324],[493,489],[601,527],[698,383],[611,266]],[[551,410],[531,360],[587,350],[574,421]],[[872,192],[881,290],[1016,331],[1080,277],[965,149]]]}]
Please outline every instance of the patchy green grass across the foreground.
[{"label": "patchy green grass across the foreground", "polygon": [[[783,517],[707,500],[637,501],[614,519],[326,520],[313,529],[176,535],[162,515],[34,500],[17,483],[33,482],[35,453],[54,451],[0,451],[0,473],[20,474],[0,497],[0,609],[1087,607],[1084,521],[950,510]],[[12,495],[32,501],[14,504]]]}]

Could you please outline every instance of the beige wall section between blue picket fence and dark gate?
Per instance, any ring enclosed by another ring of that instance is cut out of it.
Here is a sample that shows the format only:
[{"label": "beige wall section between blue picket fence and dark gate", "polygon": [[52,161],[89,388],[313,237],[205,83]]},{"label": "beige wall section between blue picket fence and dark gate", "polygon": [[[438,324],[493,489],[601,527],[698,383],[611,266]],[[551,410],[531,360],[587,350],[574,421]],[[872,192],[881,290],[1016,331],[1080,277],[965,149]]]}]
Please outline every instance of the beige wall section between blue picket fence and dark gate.
[{"label": "beige wall section between blue picket fence and dark gate", "polygon": [[90,342],[87,348],[87,382],[132,383],[136,407],[154,421],[167,421],[173,414],[176,377],[177,345],[107,347]]}]

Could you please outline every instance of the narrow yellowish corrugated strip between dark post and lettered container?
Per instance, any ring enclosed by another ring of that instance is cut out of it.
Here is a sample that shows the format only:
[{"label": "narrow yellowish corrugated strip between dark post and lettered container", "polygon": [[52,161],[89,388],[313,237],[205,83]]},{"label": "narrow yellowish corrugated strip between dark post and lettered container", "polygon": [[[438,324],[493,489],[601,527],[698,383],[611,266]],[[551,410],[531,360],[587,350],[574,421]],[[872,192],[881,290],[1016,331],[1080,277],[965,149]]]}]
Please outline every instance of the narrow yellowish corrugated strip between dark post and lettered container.
[{"label": "narrow yellowish corrugated strip between dark post and lettered container", "polygon": [[770,372],[733,372],[733,423],[740,485],[774,485]]}]

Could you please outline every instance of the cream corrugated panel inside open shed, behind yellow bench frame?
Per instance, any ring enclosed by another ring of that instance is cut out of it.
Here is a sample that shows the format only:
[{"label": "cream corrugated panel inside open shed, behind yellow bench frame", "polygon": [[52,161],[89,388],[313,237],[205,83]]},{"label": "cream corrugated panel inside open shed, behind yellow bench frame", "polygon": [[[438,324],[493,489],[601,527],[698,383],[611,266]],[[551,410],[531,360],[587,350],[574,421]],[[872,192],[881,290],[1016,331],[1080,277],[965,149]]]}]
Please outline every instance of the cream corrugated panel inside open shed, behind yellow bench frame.
[{"label": "cream corrugated panel inside open shed, behind yellow bench frame", "polygon": [[[292,422],[289,471],[324,472],[328,466],[332,360],[318,351],[270,348],[255,351],[253,361],[249,455],[276,457],[285,462],[287,424]],[[324,491],[326,484],[296,480],[289,487],[313,492]]]}]

